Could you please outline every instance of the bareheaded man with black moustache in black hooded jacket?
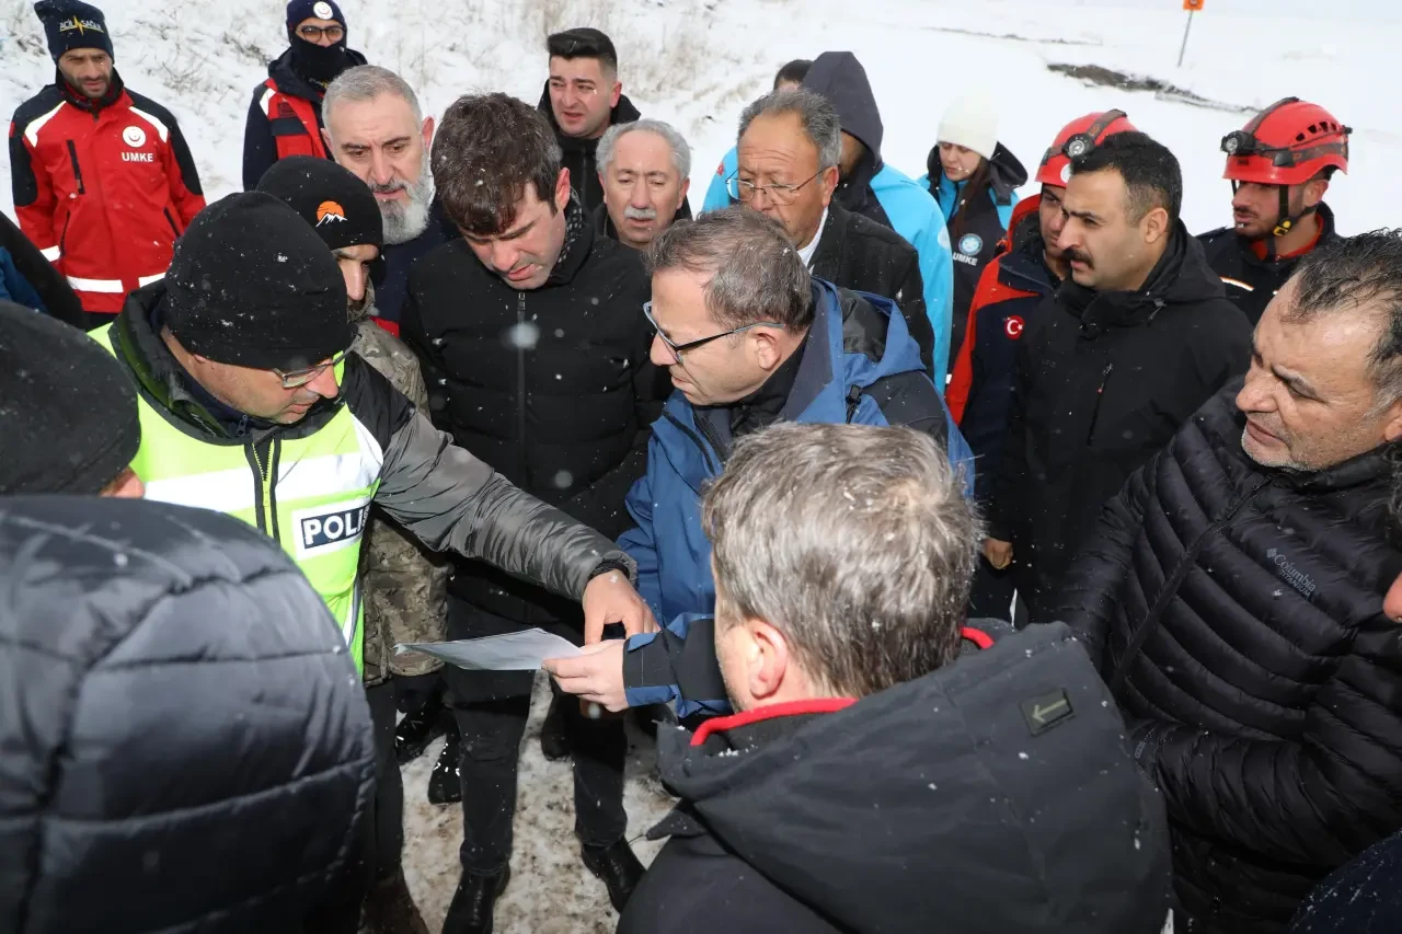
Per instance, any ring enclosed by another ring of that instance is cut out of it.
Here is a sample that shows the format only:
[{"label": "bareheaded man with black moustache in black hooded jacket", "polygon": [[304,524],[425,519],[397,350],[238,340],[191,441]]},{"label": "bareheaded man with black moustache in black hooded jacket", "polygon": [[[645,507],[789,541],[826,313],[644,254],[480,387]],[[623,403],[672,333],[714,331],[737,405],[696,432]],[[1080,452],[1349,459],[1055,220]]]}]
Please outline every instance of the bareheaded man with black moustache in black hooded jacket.
[{"label": "bareheaded man with black moustache in black hooded jacket", "polygon": [[1023,562],[1035,623],[1057,618],[1047,600],[1105,501],[1246,369],[1251,325],[1178,219],[1182,191],[1144,133],[1073,161],[1057,240],[1071,278],[1018,348],[984,543],[995,569]]}]

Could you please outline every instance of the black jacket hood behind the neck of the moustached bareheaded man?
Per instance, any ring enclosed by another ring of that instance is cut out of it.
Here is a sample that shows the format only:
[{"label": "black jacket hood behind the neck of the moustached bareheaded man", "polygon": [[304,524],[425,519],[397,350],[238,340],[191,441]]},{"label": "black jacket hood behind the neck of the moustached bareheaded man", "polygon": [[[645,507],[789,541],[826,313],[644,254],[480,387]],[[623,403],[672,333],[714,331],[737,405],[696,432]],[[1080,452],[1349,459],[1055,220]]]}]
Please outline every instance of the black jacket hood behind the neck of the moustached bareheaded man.
[{"label": "black jacket hood behind the neck of the moustached bareheaded man", "polygon": [[1207,265],[1203,244],[1187,233],[1182,220],[1178,220],[1173,223],[1168,248],[1140,290],[1096,292],[1077,285],[1074,279],[1067,279],[1057,295],[1067,309],[1080,314],[1082,330],[1095,330],[1103,325],[1140,324],[1169,304],[1225,300],[1227,286]]}]

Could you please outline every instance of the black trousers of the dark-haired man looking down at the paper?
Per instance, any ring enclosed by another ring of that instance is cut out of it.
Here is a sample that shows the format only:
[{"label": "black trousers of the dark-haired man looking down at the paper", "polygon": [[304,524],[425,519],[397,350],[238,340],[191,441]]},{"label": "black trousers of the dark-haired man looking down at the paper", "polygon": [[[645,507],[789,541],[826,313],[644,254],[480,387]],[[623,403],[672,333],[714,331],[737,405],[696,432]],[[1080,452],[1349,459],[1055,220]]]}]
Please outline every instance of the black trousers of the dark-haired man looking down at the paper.
[{"label": "black trousers of the dark-haired man looking down at the paper", "polygon": [[[449,637],[470,639],[526,628],[457,599],[449,599]],[[552,632],[580,642],[573,627]],[[530,715],[534,672],[475,672],[447,665],[443,679],[449,707],[461,733],[463,869],[495,874],[512,855],[516,813],[516,766]],[[587,846],[621,840],[628,829],[622,809],[622,767],[628,752],[622,718],[589,719],[579,701],[561,701],[565,736],[575,760],[575,834]]]}]

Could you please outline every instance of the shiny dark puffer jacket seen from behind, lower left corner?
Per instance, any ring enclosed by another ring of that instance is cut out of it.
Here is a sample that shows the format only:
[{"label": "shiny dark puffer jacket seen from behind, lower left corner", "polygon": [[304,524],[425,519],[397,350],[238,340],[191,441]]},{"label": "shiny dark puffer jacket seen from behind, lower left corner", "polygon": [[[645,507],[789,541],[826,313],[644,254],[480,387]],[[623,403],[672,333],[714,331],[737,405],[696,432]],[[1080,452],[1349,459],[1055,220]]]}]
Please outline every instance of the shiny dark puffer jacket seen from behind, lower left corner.
[{"label": "shiny dark puffer jacket seen from behind, lower left corner", "polygon": [[321,931],[346,905],[355,930],[370,714],[275,543],[0,499],[0,931]]}]

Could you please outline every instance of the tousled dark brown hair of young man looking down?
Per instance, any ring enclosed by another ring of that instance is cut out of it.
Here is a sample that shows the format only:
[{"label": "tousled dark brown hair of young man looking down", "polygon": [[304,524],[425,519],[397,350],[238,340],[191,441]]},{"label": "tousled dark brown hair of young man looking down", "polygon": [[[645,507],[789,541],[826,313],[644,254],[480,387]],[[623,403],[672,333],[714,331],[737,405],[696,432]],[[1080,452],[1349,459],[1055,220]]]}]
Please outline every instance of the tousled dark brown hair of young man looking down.
[{"label": "tousled dark brown hair of young man looking down", "polygon": [[516,222],[526,185],[555,213],[559,143],[545,116],[508,94],[465,94],[433,136],[433,185],[464,233],[499,234]]}]

